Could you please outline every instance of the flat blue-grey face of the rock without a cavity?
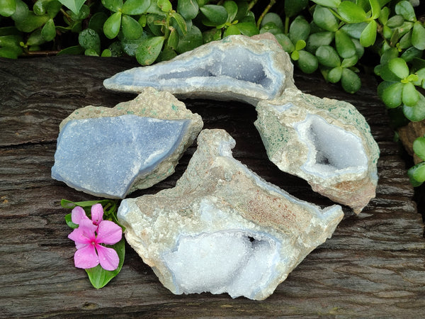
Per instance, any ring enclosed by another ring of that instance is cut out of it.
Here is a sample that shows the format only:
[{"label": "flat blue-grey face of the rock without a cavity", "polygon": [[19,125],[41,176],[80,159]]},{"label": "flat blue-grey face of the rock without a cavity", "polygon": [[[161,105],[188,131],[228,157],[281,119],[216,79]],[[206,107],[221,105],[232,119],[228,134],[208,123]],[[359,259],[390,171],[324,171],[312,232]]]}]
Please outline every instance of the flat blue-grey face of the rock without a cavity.
[{"label": "flat blue-grey face of the rock without a cavity", "polygon": [[69,121],[57,139],[52,177],[89,194],[124,198],[137,175],[176,150],[188,122],[133,115]]}]

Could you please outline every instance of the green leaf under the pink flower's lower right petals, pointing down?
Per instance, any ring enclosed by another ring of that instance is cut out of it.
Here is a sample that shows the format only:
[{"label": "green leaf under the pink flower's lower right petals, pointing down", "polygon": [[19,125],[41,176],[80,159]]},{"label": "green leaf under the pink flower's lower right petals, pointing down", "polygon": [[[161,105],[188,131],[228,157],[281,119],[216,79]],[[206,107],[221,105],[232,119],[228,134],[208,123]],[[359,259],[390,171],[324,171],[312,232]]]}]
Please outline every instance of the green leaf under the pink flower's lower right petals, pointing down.
[{"label": "green leaf under the pink flower's lower right petals, pointing down", "polygon": [[86,269],[86,273],[89,275],[89,280],[91,284],[96,289],[101,289],[102,287],[106,286],[113,277],[118,275],[123,268],[124,264],[124,258],[125,258],[125,239],[123,238],[119,242],[117,242],[115,245],[106,245],[106,247],[113,248],[120,258],[120,262],[118,264],[118,268],[111,271],[105,270],[101,267],[100,264],[98,264],[96,267]]}]

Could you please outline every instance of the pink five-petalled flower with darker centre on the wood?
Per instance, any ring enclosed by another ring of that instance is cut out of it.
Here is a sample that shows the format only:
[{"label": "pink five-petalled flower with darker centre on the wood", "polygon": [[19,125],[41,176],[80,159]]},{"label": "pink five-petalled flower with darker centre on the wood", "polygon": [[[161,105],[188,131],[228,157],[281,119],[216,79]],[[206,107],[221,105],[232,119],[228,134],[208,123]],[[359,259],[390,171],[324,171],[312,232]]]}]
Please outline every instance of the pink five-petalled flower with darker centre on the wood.
[{"label": "pink five-petalled flower with darker centre on the wood", "polygon": [[75,267],[87,269],[101,264],[101,267],[106,270],[117,269],[120,262],[117,252],[101,244],[114,245],[119,242],[123,236],[123,229],[110,220],[103,220],[101,204],[91,207],[91,220],[86,216],[83,208],[74,208],[72,222],[79,225],[68,235],[77,247],[77,252],[74,254]]}]

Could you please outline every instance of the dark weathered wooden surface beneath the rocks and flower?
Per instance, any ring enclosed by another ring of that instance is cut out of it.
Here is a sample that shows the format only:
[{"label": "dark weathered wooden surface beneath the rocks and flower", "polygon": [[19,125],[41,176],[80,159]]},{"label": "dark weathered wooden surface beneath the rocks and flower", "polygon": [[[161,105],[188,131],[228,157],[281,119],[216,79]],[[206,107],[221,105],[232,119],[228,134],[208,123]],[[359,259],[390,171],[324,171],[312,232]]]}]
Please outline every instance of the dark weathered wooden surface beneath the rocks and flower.
[{"label": "dark weathered wooden surface beneath the rocks and flower", "polygon": [[[64,223],[69,211],[60,200],[94,197],[51,179],[58,125],[76,108],[133,99],[135,94],[108,91],[102,82],[135,66],[132,60],[79,56],[0,59],[0,317],[424,316],[424,227],[373,77],[363,78],[361,91],[350,95],[317,75],[295,75],[302,91],[351,102],[363,113],[380,146],[380,179],[377,197],[363,213],[355,216],[344,208],[333,237],[272,296],[265,301],[210,293],[176,296],[130,247],[120,274],[105,288],[92,288],[84,270],[74,267],[74,244]],[[234,157],[261,177],[303,200],[331,204],[268,161],[252,106],[185,103],[203,117],[205,128],[227,130],[237,141]],[[173,187],[195,149],[188,149],[174,175],[131,196]]]}]

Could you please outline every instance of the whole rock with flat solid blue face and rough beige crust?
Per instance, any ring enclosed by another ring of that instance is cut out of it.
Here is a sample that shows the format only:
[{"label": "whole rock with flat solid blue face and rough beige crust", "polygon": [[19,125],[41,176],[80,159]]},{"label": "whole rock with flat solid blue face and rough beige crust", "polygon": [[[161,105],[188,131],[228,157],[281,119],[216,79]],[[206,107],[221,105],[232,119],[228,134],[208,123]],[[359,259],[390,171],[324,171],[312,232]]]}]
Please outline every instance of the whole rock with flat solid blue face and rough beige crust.
[{"label": "whole rock with flat solid blue face and rough beige crust", "polygon": [[202,127],[184,103],[152,88],[114,108],[79,108],[60,124],[52,178],[88,194],[125,198],[173,174]]}]

